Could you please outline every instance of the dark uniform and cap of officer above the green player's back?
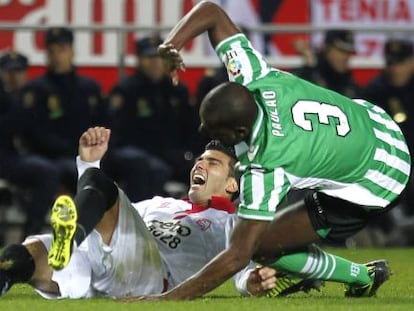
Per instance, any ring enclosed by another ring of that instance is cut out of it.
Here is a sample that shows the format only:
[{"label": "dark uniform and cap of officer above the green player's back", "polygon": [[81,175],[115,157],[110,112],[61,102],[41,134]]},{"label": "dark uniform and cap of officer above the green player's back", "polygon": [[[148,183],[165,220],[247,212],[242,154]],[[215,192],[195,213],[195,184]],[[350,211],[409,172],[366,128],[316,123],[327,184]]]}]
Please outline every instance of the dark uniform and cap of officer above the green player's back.
[{"label": "dark uniform and cap of officer above the green player's back", "polygon": [[[355,51],[354,37],[350,31],[330,30],[325,35],[324,43],[326,46],[332,46],[345,52],[353,53]],[[294,70],[293,73],[350,98],[356,98],[360,95],[361,88],[354,80],[351,71],[337,72],[328,62],[323,51],[318,52],[316,58],[314,66],[304,66]]]}]

